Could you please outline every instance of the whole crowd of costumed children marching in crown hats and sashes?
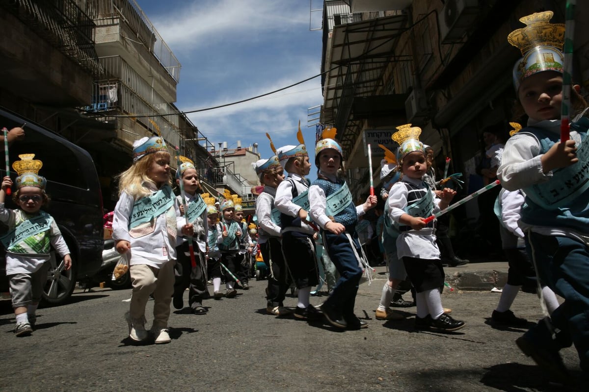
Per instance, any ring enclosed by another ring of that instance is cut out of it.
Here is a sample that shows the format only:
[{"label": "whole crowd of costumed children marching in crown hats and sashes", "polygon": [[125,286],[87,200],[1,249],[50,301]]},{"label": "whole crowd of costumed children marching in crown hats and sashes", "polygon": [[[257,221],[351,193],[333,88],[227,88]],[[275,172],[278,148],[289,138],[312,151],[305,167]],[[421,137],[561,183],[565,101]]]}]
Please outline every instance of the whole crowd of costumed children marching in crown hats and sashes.
[{"label": "whole crowd of costumed children marching in crown hats and sashes", "polygon": [[[550,24],[551,16],[542,12],[522,18],[527,26],[509,35],[509,42],[524,56],[514,67],[514,86],[528,120],[523,129],[515,126],[512,137],[490,157],[497,161],[497,176],[505,188],[495,212],[509,260],[508,282],[491,319],[525,325],[526,320],[509,310],[511,303],[522,286],[540,293],[547,317],[520,337],[517,345],[548,374],[566,382],[568,372],[558,354],[562,347],[574,344],[581,368],[589,372],[589,182],[578,180],[589,160],[584,148],[589,120],[587,104],[574,86],[570,140],[560,139],[564,25]],[[430,166],[427,146],[419,140],[421,129],[411,124],[397,129],[392,139],[398,148],[396,153],[385,151],[380,172],[384,204],[378,209],[377,231],[389,276],[376,319],[403,318],[389,304],[399,284],[409,280],[415,297],[415,328],[456,331],[465,323],[442,307],[445,274],[435,221],[427,219],[448,207],[456,191],[443,185],[435,189],[439,185],[435,180],[424,182]],[[155,343],[170,342],[170,304],[183,309],[186,289],[194,314],[208,311],[203,299],[211,296],[209,282],[214,299],[236,297],[236,289],[248,290],[247,260],[258,249],[269,270],[268,314],[293,315],[309,322],[325,317],[336,329],[368,327],[355,315],[359,282],[368,267],[356,229],[378,199],[368,196],[358,206],[353,203],[335,132],[335,128],[326,129],[316,140],[313,183],[306,178],[312,163],[300,126],[298,145],[275,149],[270,140],[275,155],[253,164],[263,185],[254,227],[244,223],[237,200],[227,197],[216,203],[213,197],[201,196],[198,173],[190,160],[183,159],[173,183],[172,157],[161,137],[134,143],[134,162],[120,175],[120,198],[112,220],[112,238],[128,263],[133,284],[127,314],[131,340],[146,340],[151,331]],[[7,253],[15,333],[27,336],[35,328],[49,246],[64,257],[66,268],[71,259],[54,219],[41,210],[47,203],[46,182],[38,175],[42,164],[32,154],[20,157],[13,165],[19,174],[13,196],[18,209],[4,207],[6,191],[13,183],[10,177],[2,181],[0,220],[10,231],[0,240]],[[180,187],[178,196],[174,185]],[[314,306],[311,293],[320,284],[320,270],[329,272],[329,297]],[[538,279],[533,278],[535,272]],[[284,306],[290,286],[296,288],[294,309]],[[564,299],[562,304],[555,293]],[[145,307],[150,296],[153,321],[147,329]]]}]

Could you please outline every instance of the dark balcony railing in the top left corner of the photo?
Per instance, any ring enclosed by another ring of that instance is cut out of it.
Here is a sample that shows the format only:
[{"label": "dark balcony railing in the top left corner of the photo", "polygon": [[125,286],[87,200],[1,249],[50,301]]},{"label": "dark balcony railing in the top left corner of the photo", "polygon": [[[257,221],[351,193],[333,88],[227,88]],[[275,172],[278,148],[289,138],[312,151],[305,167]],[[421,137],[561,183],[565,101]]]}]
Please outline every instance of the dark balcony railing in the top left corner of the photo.
[{"label": "dark balcony railing in the top left corner of the photo", "polygon": [[0,4],[82,69],[95,77],[101,75],[92,41],[94,22],[75,1],[12,0]]}]

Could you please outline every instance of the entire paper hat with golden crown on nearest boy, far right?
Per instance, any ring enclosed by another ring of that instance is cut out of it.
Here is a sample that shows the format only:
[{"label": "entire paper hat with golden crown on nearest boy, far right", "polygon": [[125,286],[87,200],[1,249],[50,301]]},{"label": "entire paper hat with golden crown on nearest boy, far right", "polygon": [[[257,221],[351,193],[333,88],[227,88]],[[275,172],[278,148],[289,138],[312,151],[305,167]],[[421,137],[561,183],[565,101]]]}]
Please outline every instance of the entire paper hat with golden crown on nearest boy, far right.
[{"label": "entire paper hat with golden crown on nearest boy, far right", "polygon": [[509,33],[507,41],[521,51],[513,69],[515,91],[531,75],[544,71],[563,73],[564,24],[551,24],[552,11],[536,12],[519,21],[526,26]]}]

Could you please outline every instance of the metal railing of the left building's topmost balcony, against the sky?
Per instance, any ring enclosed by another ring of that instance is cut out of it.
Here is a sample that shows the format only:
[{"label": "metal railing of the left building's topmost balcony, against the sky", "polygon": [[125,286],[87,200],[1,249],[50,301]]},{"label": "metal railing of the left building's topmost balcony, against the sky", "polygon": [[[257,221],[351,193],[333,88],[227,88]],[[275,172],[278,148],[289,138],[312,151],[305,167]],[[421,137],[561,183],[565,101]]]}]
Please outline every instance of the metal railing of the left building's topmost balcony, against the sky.
[{"label": "metal railing of the left building's topmost balcony, against the sky", "polygon": [[137,39],[166,69],[168,75],[176,83],[180,82],[180,62],[135,0],[90,0],[88,9],[91,10],[89,12],[92,18],[97,21],[122,18],[135,32]]}]

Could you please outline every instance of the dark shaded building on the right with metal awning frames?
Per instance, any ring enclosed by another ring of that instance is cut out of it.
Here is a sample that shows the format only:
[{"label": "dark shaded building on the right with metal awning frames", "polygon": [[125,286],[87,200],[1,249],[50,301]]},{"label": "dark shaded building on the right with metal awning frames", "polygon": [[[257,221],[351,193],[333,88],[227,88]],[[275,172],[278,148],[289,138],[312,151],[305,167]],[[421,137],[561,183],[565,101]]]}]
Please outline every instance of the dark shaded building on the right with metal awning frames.
[{"label": "dark shaded building on the right with metal awning frames", "polygon": [[[577,6],[578,20],[587,6]],[[511,120],[515,99],[511,69],[521,56],[507,35],[541,9],[564,22],[564,0],[326,0],[323,6],[320,122],[337,128],[350,190],[368,193],[368,151],[379,183],[378,143],[393,146],[395,127],[413,123],[421,140],[439,152],[449,173],[464,173],[461,193],[482,186],[475,173],[482,129]],[[577,24],[575,79],[589,79],[588,31]],[[587,83],[583,83],[587,85]],[[466,219],[478,217],[477,203]]]}]

